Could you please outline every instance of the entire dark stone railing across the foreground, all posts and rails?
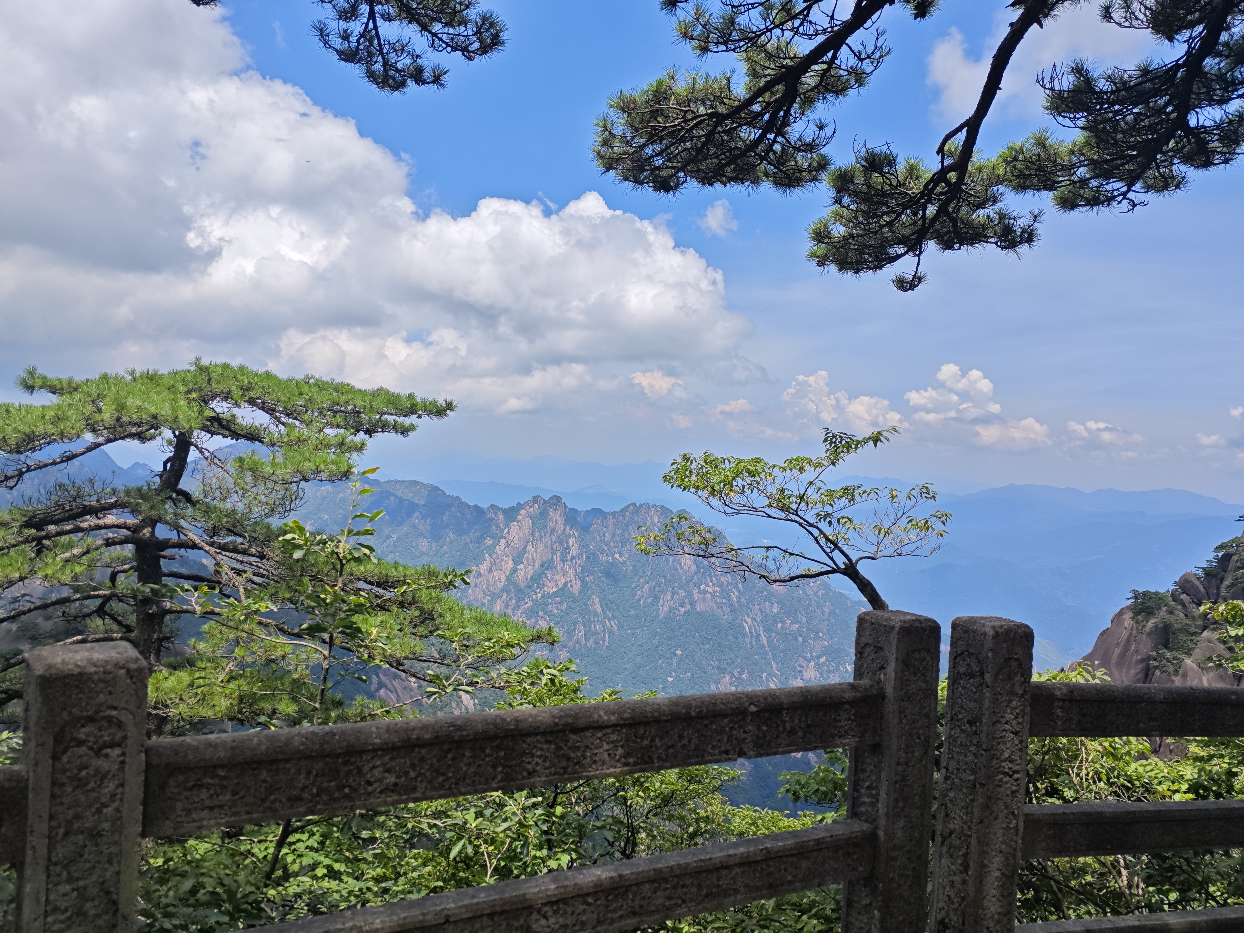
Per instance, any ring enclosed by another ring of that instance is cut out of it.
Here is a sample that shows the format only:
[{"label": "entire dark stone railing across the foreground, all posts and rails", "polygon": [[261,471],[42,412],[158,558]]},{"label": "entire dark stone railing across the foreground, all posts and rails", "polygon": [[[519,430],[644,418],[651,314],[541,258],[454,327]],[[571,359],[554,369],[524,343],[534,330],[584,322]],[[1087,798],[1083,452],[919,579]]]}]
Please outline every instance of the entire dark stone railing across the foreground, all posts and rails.
[{"label": "entire dark stone railing across the foreground, all posts and rails", "polygon": [[1244,735],[1244,690],[1030,683],[1028,626],[958,618],[934,836],[939,641],[866,612],[851,683],[159,741],[129,646],[36,649],[22,765],[0,769],[17,929],[131,933],[141,837],[822,748],[851,749],[831,825],[264,929],[627,931],[831,883],[843,933],[1244,929],[1238,908],[1015,928],[1021,858],[1244,845],[1234,801],[1025,807],[1029,734]]}]

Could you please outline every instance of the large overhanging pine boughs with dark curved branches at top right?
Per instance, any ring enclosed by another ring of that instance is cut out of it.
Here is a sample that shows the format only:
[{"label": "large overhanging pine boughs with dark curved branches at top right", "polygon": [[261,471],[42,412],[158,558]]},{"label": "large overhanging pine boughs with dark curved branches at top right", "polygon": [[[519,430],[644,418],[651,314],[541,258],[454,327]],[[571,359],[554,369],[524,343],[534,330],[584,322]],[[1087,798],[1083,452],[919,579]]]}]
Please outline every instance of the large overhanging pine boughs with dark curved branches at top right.
[{"label": "large overhanging pine boughs with dark curved branches at top right", "polygon": [[826,154],[836,133],[829,107],[863,90],[889,55],[881,27],[897,15],[889,7],[923,20],[937,0],[661,4],[698,57],[731,55],[741,75],[667,71],[615,95],[596,123],[601,169],[663,193],[824,182],[831,209],[809,228],[809,259],[855,275],[914,260],[893,277],[901,291],[924,281],[929,246],[1018,253],[1036,243],[1041,211],[1019,210],[1008,195],[1045,193],[1064,211],[1130,211],[1244,152],[1244,0],[1105,0],[1105,22],[1148,31],[1167,53],[1132,67],[1076,60],[1044,72],[1045,111],[1070,138],[1037,129],[986,157],[978,142],[1006,66],[1034,27],[1075,5],[1014,0],[975,108],[931,160],[862,143],[841,165]]}]

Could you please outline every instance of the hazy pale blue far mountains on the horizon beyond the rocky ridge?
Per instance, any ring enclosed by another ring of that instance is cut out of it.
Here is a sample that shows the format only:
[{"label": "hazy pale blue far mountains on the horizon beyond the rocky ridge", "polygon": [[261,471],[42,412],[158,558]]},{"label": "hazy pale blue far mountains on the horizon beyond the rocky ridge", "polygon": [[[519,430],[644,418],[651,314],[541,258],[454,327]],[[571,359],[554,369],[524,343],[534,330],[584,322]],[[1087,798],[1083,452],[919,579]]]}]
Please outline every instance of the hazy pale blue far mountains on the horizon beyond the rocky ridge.
[{"label": "hazy pale blue far mountains on the horizon beyond the rocky ridge", "polygon": [[[396,468],[394,468],[396,469]],[[452,475],[459,479],[435,480]],[[764,521],[720,519],[657,481],[661,465],[573,463],[556,458],[488,460],[438,458],[412,463],[447,491],[486,506],[532,495],[557,495],[577,509],[657,501],[719,524],[736,544],[781,541]],[[505,475],[500,483],[489,476]],[[540,478],[545,485],[540,485]],[[896,478],[841,476],[841,483],[904,488]],[[578,484],[578,485],[576,485]],[[631,498],[628,498],[628,494]],[[932,557],[886,561],[872,578],[892,606],[922,612],[948,626],[962,615],[1008,616],[1037,634],[1037,664],[1059,667],[1084,654],[1112,613],[1136,590],[1166,590],[1219,541],[1238,534],[1244,505],[1182,489],[1085,493],[1008,485],[943,493],[953,515],[944,547]],[[848,583],[842,583],[853,596]]]}]

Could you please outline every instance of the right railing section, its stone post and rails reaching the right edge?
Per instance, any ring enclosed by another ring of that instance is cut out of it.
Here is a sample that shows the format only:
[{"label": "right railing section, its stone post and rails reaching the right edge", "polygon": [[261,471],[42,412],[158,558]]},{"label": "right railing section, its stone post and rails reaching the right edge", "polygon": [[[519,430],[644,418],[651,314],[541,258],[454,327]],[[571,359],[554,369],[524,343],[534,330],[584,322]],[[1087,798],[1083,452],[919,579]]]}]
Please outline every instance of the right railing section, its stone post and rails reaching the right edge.
[{"label": "right railing section, its stone post and rails reaching the right edge", "polygon": [[950,626],[929,928],[934,933],[1244,931],[1244,907],[1015,926],[1030,858],[1244,847],[1244,801],[1025,806],[1029,736],[1244,736],[1244,689],[1033,682],[1033,629]]}]

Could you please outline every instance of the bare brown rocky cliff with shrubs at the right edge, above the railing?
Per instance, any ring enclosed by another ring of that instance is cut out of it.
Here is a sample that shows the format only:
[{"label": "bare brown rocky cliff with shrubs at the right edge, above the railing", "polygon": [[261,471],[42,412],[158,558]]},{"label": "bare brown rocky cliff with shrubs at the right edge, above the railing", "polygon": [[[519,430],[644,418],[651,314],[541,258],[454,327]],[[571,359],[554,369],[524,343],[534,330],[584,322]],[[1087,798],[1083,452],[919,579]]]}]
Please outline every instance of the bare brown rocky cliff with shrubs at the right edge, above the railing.
[{"label": "bare brown rocky cliff with shrubs at the right edge, above the railing", "polygon": [[1082,662],[1103,668],[1113,683],[1239,687],[1244,675],[1222,662],[1230,649],[1200,606],[1244,598],[1244,541],[1214,549],[1204,566],[1187,571],[1167,592],[1133,591],[1132,602],[1097,636]]}]

